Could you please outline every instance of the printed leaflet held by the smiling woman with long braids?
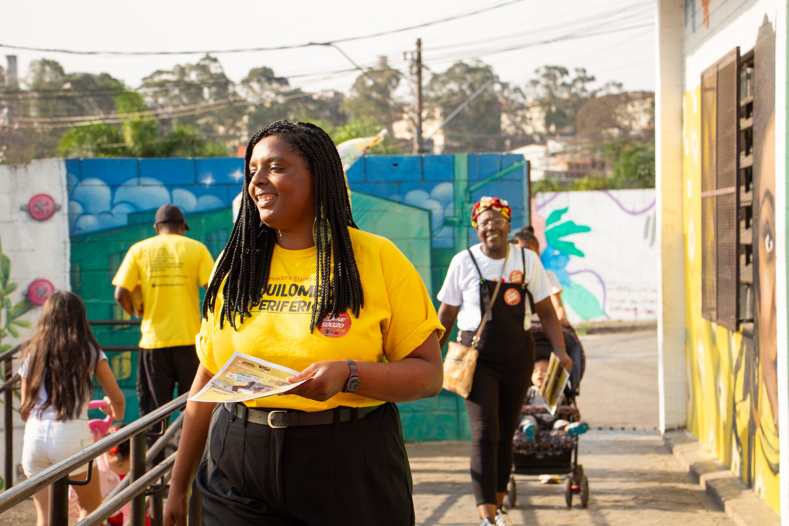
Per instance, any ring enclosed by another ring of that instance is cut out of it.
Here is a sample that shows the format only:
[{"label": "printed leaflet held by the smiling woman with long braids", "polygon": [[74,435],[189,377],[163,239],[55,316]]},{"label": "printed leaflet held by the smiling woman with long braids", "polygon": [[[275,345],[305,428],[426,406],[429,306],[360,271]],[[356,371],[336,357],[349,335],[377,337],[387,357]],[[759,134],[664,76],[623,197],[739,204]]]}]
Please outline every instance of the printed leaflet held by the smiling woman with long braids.
[{"label": "printed leaflet held by the smiling woman with long braids", "polygon": [[189,398],[195,402],[246,402],[286,393],[307,380],[291,384],[286,380],[297,370],[235,351],[214,378]]}]

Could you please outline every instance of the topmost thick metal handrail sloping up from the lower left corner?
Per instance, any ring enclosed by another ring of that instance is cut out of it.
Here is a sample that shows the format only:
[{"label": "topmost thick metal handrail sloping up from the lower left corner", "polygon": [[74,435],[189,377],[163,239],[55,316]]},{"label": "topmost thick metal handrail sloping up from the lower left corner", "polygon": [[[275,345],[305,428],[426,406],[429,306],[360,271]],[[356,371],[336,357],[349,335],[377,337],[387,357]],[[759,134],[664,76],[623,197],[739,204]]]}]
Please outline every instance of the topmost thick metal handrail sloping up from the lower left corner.
[{"label": "topmost thick metal handrail sloping up from the lower left corner", "polygon": [[0,513],[13,508],[13,506],[24,501],[24,499],[32,497],[33,494],[43,490],[51,483],[67,478],[69,473],[74,472],[77,468],[84,466],[84,464],[88,464],[90,460],[94,460],[97,456],[106,453],[116,445],[129,440],[129,438],[136,438],[140,434],[144,434],[148,427],[165,419],[175,411],[184,408],[188,396],[189,393],[178,396],[175,400],[171,400],[155,411],[151,411],[148,415],[136,419],[133,423],[127,424],[115,433],[108,434],[101,440],[95,441],[85,449],[80,449],[77,453],[45,469],[38,475],[34,475],[19,483],[19,485],[3,491],[0,493]]}]

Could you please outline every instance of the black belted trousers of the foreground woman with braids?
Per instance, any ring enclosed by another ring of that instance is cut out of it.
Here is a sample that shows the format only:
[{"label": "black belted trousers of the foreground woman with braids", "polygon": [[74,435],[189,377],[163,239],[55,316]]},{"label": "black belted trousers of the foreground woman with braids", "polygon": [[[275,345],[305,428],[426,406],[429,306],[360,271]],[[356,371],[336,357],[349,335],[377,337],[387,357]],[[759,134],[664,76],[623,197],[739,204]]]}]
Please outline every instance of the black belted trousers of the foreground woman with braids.
[{"label": "black belted trousers of the foreground woman with braids", "polygon": [[206,526],[413,526],[397,407],[357,423],[272,429],[218,405],[196,476]]}]

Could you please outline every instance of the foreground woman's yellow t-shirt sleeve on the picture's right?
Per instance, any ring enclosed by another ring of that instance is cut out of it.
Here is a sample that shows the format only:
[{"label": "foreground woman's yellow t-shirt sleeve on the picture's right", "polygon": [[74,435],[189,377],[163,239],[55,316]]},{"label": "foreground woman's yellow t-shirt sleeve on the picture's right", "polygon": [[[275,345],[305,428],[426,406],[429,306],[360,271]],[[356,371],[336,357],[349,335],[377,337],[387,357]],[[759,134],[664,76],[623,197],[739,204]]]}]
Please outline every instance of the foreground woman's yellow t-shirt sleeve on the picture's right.
[{"label": "foreground woman's yellow t-shirt sleeve on the picture's right", "polygon": [[381,250],[384,282],[391,315],[383,326],[383,353],[389,362],[406,358],[438,330],[444,328],[424,282],[408,258],[394,244]]}]

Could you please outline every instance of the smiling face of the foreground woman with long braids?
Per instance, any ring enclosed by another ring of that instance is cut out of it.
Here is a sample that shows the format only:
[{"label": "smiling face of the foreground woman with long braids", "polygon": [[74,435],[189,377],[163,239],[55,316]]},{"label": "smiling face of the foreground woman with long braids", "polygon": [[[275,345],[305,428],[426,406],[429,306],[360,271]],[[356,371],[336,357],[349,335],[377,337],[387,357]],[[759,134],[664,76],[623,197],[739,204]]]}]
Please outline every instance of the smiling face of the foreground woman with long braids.
[{"label": "smiling face of the foreground woman with long braids", "polygon": [[307,160],[282,137],[265,137],[249,159],[249,196],[260,220],[288,231],[315,221],[315,190]]}]

